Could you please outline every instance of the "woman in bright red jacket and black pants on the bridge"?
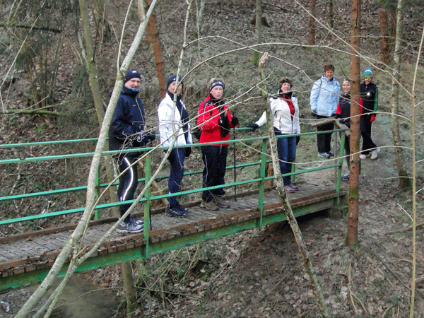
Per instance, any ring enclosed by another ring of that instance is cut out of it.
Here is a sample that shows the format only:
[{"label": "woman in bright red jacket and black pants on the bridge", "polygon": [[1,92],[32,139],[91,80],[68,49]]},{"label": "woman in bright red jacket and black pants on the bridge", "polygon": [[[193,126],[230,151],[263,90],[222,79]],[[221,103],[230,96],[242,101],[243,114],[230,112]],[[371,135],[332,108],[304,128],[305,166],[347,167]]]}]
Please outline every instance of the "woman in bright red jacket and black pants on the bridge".
[{"label": "woman in bright red jacket and black pants on the bridge", "polygon": [[[203,184],[205,188],[225,184],[224,175],[227,166],[228,141],[230,129],[238,125],[237,117],[233,117],[223,93],[225,84],[218,78],[211,79],[209,95],[199,105],[197,124],[201,128],[200,143],[219,142],[212,145],[201,146],[202,160],[205,167],[203,171]],[[206,189],[202,194],[200,206],[216,211],[218,208],[229,208],[230,204],[222,196],[223,188]]]}]

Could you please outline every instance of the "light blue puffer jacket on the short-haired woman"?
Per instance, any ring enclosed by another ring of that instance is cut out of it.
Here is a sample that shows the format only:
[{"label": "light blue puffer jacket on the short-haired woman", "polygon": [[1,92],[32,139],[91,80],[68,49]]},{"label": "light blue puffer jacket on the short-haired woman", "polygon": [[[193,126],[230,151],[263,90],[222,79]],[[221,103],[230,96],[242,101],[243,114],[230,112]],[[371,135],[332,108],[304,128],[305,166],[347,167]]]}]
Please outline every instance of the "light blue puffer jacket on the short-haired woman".
[{"label": "light blue puffer jacket on the short-haired woman", "polygon": [[333,78],[322,76],[314,83],[311,90],[311,110],[319,116],[330,117],[336,113],[338,97],[340,96],[340,83]]}]

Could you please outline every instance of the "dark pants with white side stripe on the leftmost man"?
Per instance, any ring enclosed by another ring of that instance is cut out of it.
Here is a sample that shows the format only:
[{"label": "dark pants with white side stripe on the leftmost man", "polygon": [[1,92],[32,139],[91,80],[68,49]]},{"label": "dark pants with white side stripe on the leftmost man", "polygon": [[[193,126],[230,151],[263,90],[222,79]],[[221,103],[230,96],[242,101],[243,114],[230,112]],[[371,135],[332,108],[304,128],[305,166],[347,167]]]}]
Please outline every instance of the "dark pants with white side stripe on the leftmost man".
[{"label": "dark pants with white side stripe on the leftmost man", "polygon": [[[117,158],[119,173],[124,171],[132,163],[136,162],[137,159],[138,157],[128,154],[124,156],[119,156]],[[121,177],[119,177],[119,186],[117,191],[119,202],[134,199],[134,193],[136,192],[138,183],[139,176],[137,175],[137,165],[133,165],[129,167],[129,169],[126,170],[124,174],[121,175]],[[124,213],[126,212],[126,210],[129,209],[130,206],[131,204],[123,204],[119,206],[121,216],[124,215]],[[129,217],[127,216],[125,220],[129,220]]]}]

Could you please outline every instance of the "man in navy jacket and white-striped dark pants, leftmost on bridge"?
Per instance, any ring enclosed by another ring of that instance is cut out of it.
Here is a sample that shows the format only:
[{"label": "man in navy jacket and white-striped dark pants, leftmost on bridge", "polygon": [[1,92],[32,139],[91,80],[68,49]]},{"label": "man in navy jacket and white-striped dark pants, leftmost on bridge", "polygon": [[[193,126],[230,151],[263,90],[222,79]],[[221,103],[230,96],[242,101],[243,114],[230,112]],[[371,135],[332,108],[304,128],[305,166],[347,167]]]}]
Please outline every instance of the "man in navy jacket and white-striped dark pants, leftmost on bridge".
[{"label": "man in navy jacket and white-striped dark pants, leftmost on bridge", "polygon": [[[112,122],[109,129],[109,150],[123,151],[129,148],[141,148],[146,143],[155,140],[153,131],[146,130],[146,117],[141,99],[137,97],[140,93],[139,87],[141,76],[135,69],[126,72],[124,86],[119,95],[117,107],[114,110]],[[141,151],[129,153],[116,153],[114,159],[117,160],[119,174],[118,197],[119,202],[134,199],[138,184],[136,161],[139,159]],[[131,204],[119,206],[121,216]],[[129,214],[125,220],[119,224],[119,233],[137,233],[143,231],[143,221],[137,220]]]}]

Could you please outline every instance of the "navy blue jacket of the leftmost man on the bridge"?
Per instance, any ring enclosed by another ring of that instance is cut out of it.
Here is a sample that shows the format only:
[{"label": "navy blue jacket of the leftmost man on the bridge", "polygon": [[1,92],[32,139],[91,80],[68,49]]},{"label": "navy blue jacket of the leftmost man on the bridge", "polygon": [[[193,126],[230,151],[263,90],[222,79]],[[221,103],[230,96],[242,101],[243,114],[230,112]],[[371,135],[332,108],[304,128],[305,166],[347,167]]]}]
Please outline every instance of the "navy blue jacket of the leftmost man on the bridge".
[{"label": "navy blue jacket of the leftmost man on the bridge", "polygon": [[[137,141],[137,134],[142,133],[146,123],[144,107],[137,97],[139,90],[122,87],[121,95],[114,110],[109,128],[109,150],[140,148],[144,143]],[[131,153],[137,155],[137,153]]]}]

